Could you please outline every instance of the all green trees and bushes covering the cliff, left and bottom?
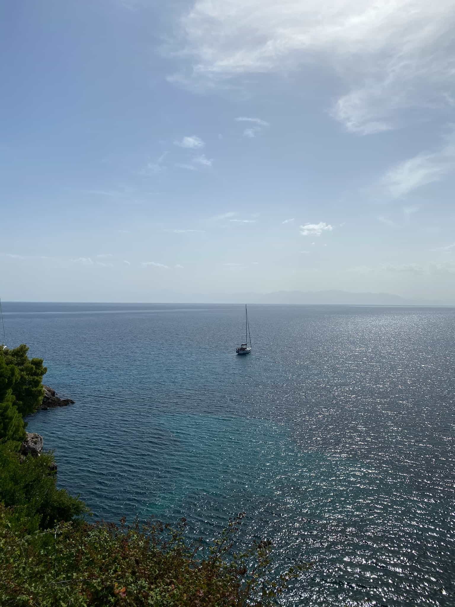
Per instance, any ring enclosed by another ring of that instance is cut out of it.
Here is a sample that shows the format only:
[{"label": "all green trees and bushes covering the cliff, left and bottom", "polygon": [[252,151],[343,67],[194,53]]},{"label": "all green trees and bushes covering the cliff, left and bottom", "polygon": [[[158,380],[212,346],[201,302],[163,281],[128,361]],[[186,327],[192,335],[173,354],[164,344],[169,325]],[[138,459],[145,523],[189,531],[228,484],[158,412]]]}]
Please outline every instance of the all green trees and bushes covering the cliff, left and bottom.
[{"label": "all green trees and bushes covering the cliff, left and bottom", "polygon": [[297,571],[269,577],[271,544],[233,554],[241,515],[213,543],[186,521],[89,524],[83,501],[57,489],[52,453],[21,455],[24,416],[42,399],[41,359],[0,349],[0,602],[5,606],[246,607],[279,605]]}]

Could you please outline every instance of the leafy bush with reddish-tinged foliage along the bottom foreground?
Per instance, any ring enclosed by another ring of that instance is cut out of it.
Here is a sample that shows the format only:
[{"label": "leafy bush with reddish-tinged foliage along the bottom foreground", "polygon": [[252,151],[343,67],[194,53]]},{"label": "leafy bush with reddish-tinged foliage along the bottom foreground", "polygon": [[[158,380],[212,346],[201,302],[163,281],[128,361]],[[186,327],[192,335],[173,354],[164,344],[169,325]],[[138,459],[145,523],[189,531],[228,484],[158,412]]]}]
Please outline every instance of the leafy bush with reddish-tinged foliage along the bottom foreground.
[{"label": "leafy bush with reddish-tinged foliage along the bottom foreground", "polygon": [[[244,607],[277,605],[293,577],[267,582],[269,543],[226,560],[237,521],[204,550],[177,531],[154,524],[140,528],[62,523],[52,532],[18,534],[0,507],[1,605],[18,607],[130,605]],[[255,561],[248,568],[247,563]]]}]

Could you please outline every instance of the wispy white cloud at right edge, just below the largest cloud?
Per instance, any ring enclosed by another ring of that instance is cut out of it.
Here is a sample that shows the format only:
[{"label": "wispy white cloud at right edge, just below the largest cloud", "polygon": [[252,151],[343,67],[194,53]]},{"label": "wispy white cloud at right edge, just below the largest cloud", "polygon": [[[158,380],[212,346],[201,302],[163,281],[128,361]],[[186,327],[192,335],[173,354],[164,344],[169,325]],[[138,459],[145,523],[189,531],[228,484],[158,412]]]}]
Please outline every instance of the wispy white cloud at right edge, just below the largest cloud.
[{"label": "wispy white cloud at right edge, just below the largest cloud", "polygon": [[403,198],[417,188],[440,181],[455,171],[455,136],[451,132],[442,148],[432,154],[417,154],[389,169],[379,191],[391,198]]}]

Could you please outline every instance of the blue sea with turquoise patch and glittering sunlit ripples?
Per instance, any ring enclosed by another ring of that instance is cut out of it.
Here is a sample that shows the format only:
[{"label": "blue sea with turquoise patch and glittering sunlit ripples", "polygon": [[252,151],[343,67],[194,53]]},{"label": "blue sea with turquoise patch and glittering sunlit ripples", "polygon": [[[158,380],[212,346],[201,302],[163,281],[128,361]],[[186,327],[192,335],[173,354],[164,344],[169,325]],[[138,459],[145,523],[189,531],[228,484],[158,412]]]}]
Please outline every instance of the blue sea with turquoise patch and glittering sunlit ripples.
[{"label": "blue sea with turquoise patch and glittering sunlit ripples", "polygon": [[71,407],[29,418],[96,517],[248,513],[287,605],[455,605],[454,308],[4,304]]}]

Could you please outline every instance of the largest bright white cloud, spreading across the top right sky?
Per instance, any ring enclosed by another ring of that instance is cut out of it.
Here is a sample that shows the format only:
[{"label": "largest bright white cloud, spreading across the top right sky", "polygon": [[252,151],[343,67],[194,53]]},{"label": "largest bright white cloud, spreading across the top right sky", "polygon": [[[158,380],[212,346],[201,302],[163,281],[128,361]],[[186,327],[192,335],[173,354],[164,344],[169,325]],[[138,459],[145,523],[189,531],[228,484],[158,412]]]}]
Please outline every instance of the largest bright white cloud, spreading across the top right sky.
[{"label": "largest bright white cloud, spreading across the top right sky", "polygon": [[402,110],[451,103],[454,16],[453,0],[193,0],[167,49],[181,61],[169,80],[223,89],[317,64],[345,88],[334,118],[351,132],[386,131]]}]

